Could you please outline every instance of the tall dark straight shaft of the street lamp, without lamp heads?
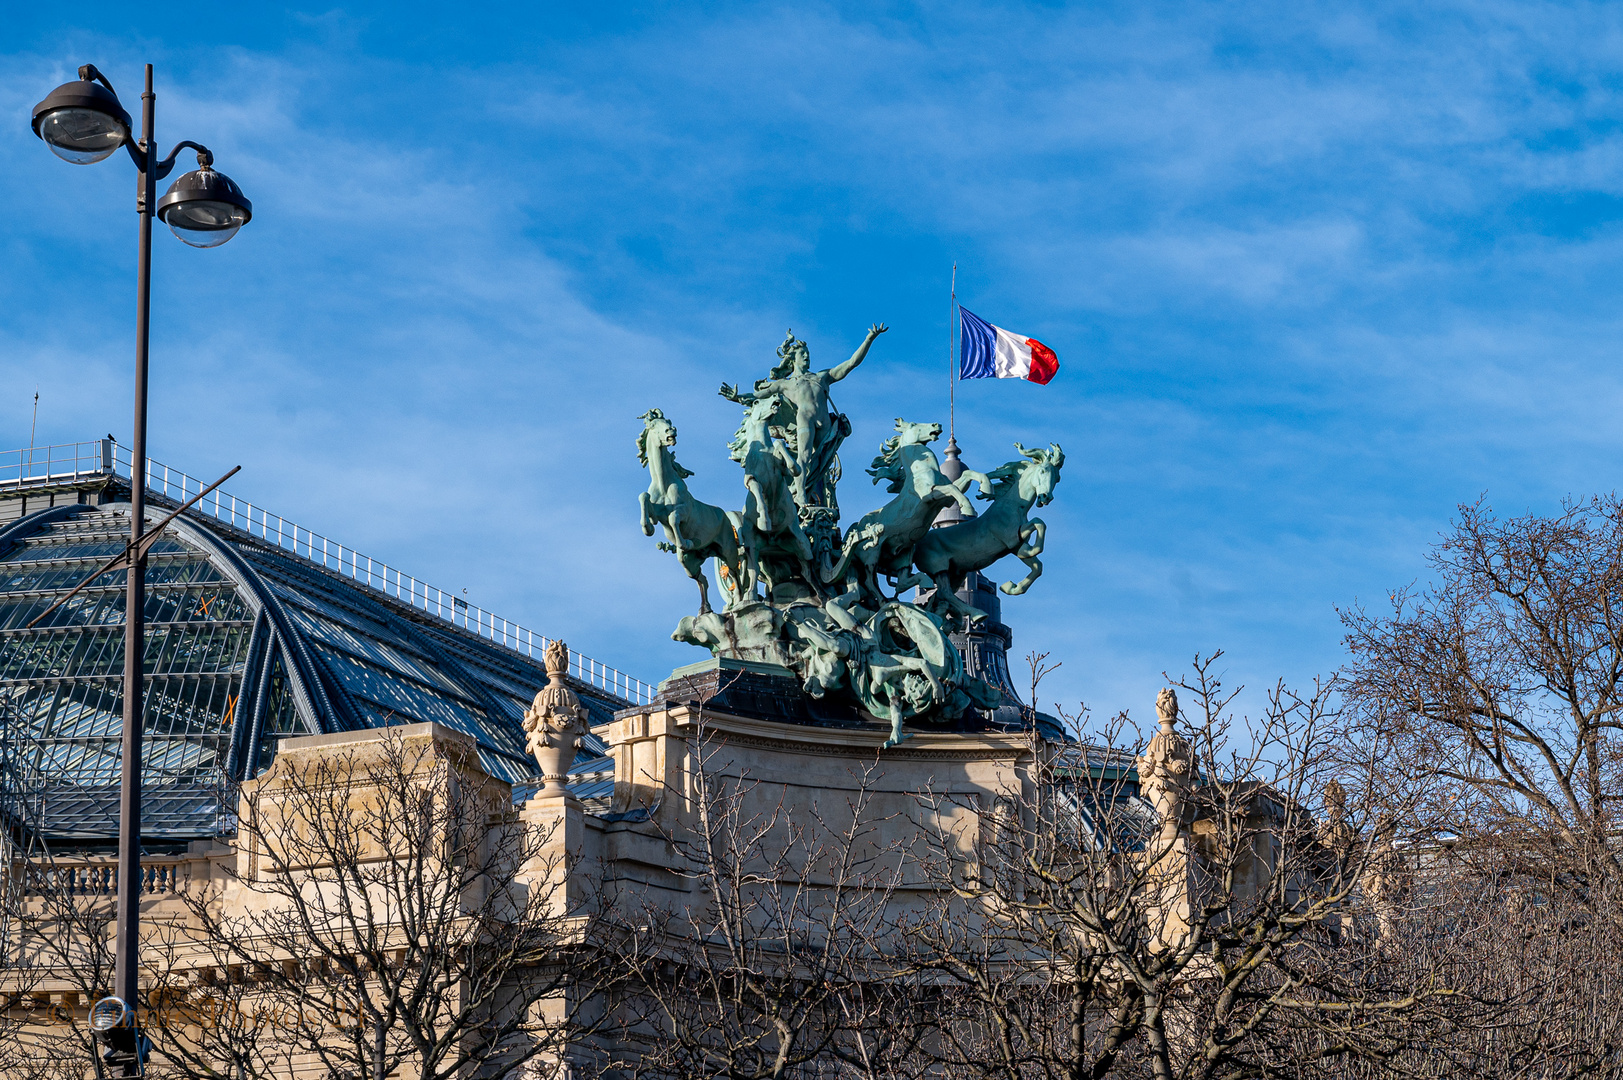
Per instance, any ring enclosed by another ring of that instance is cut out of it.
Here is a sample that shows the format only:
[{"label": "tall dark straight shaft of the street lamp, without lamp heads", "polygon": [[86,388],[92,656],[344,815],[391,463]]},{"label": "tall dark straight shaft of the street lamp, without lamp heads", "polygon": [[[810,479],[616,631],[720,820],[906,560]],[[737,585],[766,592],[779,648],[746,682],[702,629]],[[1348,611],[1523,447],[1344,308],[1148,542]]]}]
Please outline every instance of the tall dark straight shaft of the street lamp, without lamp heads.
[{"label": "tall dark straight shaft of the street lamp, without lamp heads", "polygon": [[[130,542],[141,539],[146,521],[146,343],[153,310],[153,206],[157,201],[157,140],[153,133],[153,65],[146,65],[141,94],[141,179],[136,211],[141,219],[135,278],[135,434],[130,445]],[[146,555],[131,551],[123,601],[123,760],[118,773],[118,952],[114,994],[136,1009],[140,994],[141,924],[141,698],[146,654]],[[127,1065],[125,1075],[136,1075]]]}]

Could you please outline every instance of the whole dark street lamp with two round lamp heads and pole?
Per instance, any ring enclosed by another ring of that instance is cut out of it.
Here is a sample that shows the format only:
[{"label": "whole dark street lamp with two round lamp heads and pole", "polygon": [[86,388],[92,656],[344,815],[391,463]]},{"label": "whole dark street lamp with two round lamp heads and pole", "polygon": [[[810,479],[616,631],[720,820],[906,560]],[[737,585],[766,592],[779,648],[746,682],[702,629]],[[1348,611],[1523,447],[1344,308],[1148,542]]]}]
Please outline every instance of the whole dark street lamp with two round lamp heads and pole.
[{"label": "whole dark street lamp with two round lamp heads and pole", "polygon": [[[141,218],[135,307],[135,432],[130,447],[130,547],[123,611],[123,760],[118,773],[118,942],[114,958],[117,1005],[93,1010],[93,1026],[109,1044],[107,1061],[127,1077],[141,1075],[144,1036],[138,1007],[138,929],[141,900],[141,700],[146,630],[146,344],[153,300],[153,216],[192,247],[219,247],[253,216],[253,206],[230,177],[214,172],[214,154],[200,143],[175,145],[159,161],[153,135],[153,65],[146,65],[141,94],[141,138],[130,130],[130,114],[94,65],[34,106],[34,133],[63,161],[88,166],[125,148],[140,171],[135,210]],[[175,167],[182,149],[195,149],[198,167],[157,198],[157,182]],[[101,1062],[97,1062],[97,1069]]]}]

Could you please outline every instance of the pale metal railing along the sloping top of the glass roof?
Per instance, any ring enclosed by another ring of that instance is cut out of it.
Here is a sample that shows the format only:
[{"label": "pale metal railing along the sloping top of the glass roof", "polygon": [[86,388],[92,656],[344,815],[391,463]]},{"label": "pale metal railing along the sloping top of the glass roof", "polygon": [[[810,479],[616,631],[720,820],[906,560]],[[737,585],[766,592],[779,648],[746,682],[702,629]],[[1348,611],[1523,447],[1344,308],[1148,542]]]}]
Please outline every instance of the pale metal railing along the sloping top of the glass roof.
[{"label": "pale metal railing along the sloping top of the glass roof", "polygon": [[[128,477],[130,461],[130,448],[112,438],[5,450],[0,451],[0,490],[36,484],[71,484],[109,474]],[[161,461],[146,460],[146,489],[149,492],[180,503],[204,487],[208,484],[195,476],[172,469]],[[552,638],[516,622],[469,604],[461,596],[419,581],[409,573],[221,489],[209,492],[193,510],[526,656],[539,658],[552,642]],[[570,650],[570,672],[583,682],[636,705],[648,705],[654,700],[656,689],[651,684],[575,650]]]}]

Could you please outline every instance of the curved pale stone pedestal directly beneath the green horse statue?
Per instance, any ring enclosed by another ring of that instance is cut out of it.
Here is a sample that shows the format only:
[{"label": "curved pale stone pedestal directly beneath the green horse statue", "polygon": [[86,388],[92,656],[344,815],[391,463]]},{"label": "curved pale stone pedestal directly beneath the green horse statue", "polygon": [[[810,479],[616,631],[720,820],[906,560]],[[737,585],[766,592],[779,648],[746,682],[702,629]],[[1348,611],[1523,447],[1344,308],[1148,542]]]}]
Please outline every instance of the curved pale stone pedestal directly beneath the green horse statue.
[{"label": "curved pale stone pedestal directly beneath the green horse statue", "polygon": [[[691,840],[701,828],[706,791],[738,793],[737,820],[776,822],[786,843],[790,823],[839,830],[862,804],[863,846],[896,858],[923,854],[922,825],[936,815],[927,828],[951,835],[966,867],[995,836],[997,812],[1035,804],[1040,750],[1024,732],[922,729],[881,749],[889,724],[860,713],[808,723],[810,705],[784,689],[790,679],[740,664],[695,666],[700,671],[664,684],[667,700],[615,716],[613,810],[589,819],[588,828],[601,822],[604,858],[620,880],[690,888],[682,874],[691,867],[682,866],[670,840]],[[745,705],[760,708],[734,711]]]}]

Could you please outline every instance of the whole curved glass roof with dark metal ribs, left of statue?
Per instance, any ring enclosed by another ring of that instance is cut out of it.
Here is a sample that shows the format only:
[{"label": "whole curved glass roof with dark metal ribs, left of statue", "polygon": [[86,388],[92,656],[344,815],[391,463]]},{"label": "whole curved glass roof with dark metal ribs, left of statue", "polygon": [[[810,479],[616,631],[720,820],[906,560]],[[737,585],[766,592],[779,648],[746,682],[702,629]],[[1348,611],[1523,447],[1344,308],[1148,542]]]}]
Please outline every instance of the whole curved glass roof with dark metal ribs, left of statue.
[{"label": "whole curved glass roof with dark metal ribs, left of statue", "polygon": [[[117,835],[128,503],[44,510],[0,528],[0,812],[47,841]],[[154,515],[156,516],[156,515]],[[234,786],[276,741],[433,721],[529,788],[524,708],[542,666],[234,529],[180,518],[146,572],[146,843],[235,828]],[[630,703],[571,677],[594,724]],[[601,742],[583,747],[597,758]]]}]

